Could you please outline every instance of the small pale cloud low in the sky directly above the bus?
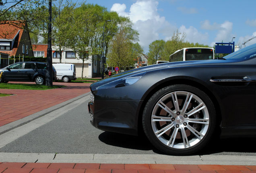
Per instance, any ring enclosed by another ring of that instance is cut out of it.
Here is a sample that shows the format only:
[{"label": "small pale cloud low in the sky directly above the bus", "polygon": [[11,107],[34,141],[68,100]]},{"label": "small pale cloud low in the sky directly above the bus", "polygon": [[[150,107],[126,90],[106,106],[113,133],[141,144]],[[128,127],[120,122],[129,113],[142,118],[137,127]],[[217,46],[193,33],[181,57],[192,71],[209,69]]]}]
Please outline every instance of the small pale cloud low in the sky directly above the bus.
[{"label": "small pale cloud low in the sky directly above the bus", "polygon": [[186,26],[182,25],[179,28],[179,32],[186,33],[186,38],[188,42],[198,42],[200,44],[207,44],[207,40],[209,38],[209,34],[198,32],[196,28],[193,26],[190,26],[189,28],[186,28]]}]

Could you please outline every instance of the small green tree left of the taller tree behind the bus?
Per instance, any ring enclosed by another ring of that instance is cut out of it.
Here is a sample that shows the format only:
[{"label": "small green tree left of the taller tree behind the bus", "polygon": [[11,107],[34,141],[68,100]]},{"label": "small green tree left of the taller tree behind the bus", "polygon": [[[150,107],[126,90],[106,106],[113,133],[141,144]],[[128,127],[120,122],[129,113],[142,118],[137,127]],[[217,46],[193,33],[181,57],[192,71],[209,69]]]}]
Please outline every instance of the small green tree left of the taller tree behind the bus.
[{"label": "small green tree left of the taller tree behind the bus", "polygon": [[149,44],[149,53],[147,54],[148,64],[154,64],[157,60],[161,60],[161,54],[163,52],[165,46],[164,40],[155,40],[151,44]]}]

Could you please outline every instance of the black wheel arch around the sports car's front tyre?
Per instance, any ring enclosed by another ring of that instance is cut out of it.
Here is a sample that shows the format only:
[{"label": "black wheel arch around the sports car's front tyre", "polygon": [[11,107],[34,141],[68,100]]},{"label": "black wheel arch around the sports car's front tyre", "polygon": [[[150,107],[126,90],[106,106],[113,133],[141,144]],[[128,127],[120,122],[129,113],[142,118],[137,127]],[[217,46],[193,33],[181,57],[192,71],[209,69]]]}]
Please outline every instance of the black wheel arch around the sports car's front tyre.
[{"label": "black wheel arch around the sports car's front tyre", "polygon": [[[209,98],[212,100],[214,106],[215,106],[215,111],[216,111],[216,116],[217,116],[217,122],[216,125],[220,127],[221,121],[222,121],[222,115],[221,115],[221,108],[220,105],[217,101],[217,98],[215,95],[203,84],[200,82],[193,80],[193,79],[188,79],[188,78],[182,78],[182,79],[177,79],[177,78],[172,78],[172,79],[165,79],[162,81],[157,82],[156,85],[151,87],[147,92],[145,92],[145,95],[143,95],[143,102],[140,104],[140,107],[138,108],[138,120],[137,120],[137,127],[138,127],[138,135],[144,134],[143,128],[142,128],[142,114],[145,108],[145,105],[149,101],[149,99],[159,91],[160,89],[170,86],[170,85],[175,85],[175,84],[185,84],[185,85],[190,85],[192,87],[196,87],[200,90],[202,90],[206,95],[209,96]],[[219,132],[218,132],[219,133]]]}]

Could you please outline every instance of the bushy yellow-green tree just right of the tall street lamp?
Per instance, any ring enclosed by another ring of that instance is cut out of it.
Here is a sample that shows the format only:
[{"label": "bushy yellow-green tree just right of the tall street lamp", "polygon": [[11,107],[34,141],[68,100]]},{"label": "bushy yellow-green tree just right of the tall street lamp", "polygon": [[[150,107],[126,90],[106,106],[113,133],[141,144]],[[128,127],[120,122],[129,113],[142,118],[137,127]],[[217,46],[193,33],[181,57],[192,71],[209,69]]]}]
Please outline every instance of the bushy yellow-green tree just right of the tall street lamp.
[{"label": "bushy yellow-green tree just right of the tall street lamp", "polygon": [[109,52],[107,54],[107,64],[109,66],[118,66],[125,69],[134,65],[134,58],[141,51],[138,44],[133,41],[138,40],[138,32],[132,29],[132,22],[129,18],[120,17],[118,33],[113,37],[109,44]]}]

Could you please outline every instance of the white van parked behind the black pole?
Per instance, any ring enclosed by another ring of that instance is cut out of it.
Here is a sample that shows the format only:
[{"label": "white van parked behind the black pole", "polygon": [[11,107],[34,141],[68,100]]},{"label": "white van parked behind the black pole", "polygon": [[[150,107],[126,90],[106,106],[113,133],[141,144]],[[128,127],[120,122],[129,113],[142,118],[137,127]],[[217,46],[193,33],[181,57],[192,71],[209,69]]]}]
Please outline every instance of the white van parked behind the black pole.
[{"label": "white van parked behind the black pole", "polygon": [[70,82],[70,80],[76,80],[76,66],[74,64],[52,64],[57,72],[57,80],[63,80],[63,82]]}]

